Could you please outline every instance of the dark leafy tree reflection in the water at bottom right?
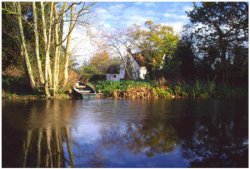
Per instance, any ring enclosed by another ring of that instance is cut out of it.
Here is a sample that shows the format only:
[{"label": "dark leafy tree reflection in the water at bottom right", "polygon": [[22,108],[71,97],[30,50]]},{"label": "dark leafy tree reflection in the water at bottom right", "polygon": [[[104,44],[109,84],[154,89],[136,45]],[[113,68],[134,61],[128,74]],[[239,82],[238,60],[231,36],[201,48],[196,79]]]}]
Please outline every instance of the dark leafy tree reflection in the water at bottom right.
[{"label": "dark leafy tree reflection in the water at bottom right", "polygon": [[247,123],[239,125],[227,117],[217,123],[207,119],[199,122],[192,138],[181,144],[183,155],[192,167],[248,166]]}]

